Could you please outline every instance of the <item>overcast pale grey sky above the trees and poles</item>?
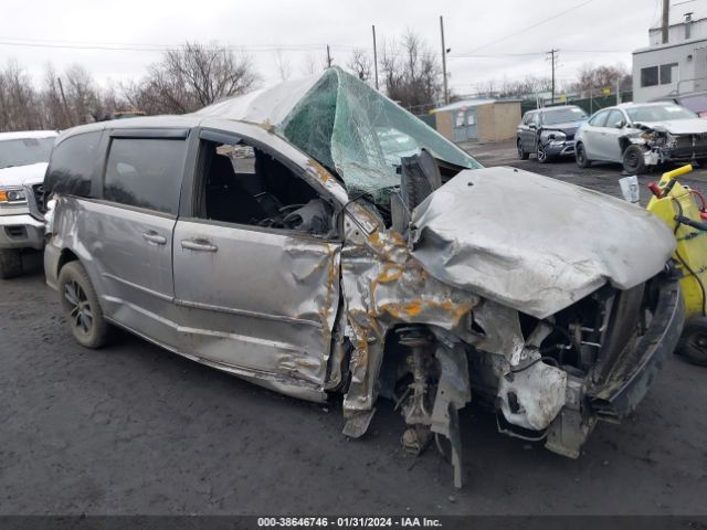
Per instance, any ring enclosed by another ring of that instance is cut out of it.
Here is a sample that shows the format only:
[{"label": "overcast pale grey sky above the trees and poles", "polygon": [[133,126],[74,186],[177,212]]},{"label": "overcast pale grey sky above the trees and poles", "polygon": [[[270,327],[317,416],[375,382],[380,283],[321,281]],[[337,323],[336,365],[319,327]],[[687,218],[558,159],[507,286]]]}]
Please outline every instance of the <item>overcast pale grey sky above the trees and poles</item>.
[{"label": "overcast pale grey sky above the trees and poles", "polygon": [[[661,0],[0,1],[0,63],[15,59],[38,80],[48,62],[59,70],[78,63],[102,84],[139,77],[149,63],[160,59],[155,49],[179,45],[186,40],[243,46],[253,56],[263,84],[279,80],[277,50],[289,64],[292,77],[302,76],[308,56],[318,64],[323,62],[326,44],[331,46],[334,62],[339,64],[346,64],[354,47],[372,49],[371,24],[376,24],[379,46],[412,29],[439,52],[439,17],[443,15],[446,45],[452,49],[447,55],[451,86],[457,94],[471,93],[477,84],[490,78],[549,75],[550,66],[542,52],[552,47],[560,50],[557,73],[560,82],[571,81],[584,63],[624,63],[630,67],[631,51],[647,45],[648,26],[659,18],[661,3]],[[675,9],[684,8],[683,3]],[[504,39],[508,35],[514,36]]]}]

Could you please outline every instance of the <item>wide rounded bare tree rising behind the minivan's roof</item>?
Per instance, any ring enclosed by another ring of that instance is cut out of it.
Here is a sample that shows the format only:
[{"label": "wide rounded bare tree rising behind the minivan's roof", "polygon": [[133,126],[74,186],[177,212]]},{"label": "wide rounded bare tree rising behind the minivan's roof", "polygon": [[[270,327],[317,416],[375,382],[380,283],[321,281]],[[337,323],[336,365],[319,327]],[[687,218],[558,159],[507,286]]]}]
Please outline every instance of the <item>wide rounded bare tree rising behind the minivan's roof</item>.
[{"label": "wide rounded bare tree rising behind the minivan's roof", "polygon": [[140,83],[124,86],[128,102],[148,114],[183,114],[244,94],[258,82],[252,59],[224,46],[187,43],[165,52]]}]

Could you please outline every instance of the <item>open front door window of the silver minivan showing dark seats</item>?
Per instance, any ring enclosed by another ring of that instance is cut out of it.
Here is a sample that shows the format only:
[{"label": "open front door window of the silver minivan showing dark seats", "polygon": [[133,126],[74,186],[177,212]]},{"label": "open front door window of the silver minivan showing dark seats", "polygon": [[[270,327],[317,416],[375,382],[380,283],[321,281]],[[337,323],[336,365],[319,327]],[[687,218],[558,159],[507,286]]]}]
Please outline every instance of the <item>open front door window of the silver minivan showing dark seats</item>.
[{"label": "open front door window of the silver minivan showing dark seats", "polygon": [[334,209],[272,155],[244,140],[201,140],[196,216],[328,235]]}]

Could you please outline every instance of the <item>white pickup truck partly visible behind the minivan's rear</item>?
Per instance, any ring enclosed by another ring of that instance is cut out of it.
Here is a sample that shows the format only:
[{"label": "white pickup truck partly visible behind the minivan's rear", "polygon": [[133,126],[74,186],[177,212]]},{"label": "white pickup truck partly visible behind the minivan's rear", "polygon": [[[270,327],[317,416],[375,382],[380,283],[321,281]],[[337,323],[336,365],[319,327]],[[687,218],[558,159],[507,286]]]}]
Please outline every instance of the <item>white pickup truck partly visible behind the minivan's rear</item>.
[{"label": "white pickup truck partly visible behind the minivan's rear", "polygon": [[56,132],[0,132],[0,278],[22,274],[22,253],[44,247],[44,173]]}]

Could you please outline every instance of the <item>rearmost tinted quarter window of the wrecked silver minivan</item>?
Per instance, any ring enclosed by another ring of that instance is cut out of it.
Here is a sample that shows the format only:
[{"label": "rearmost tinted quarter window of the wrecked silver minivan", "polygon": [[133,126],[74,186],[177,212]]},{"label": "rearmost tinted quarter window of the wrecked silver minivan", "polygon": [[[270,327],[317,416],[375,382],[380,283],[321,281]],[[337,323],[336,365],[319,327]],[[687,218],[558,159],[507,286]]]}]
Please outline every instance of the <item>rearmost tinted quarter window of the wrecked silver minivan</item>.
[{"label": "rearmost tinted quarter window of the wrecked silver minivan", "polygon": [[46,197],[51,193],[93,197],[91,181],[98,156],[102,131],[84,132],[54,146],[44,178]]}]

